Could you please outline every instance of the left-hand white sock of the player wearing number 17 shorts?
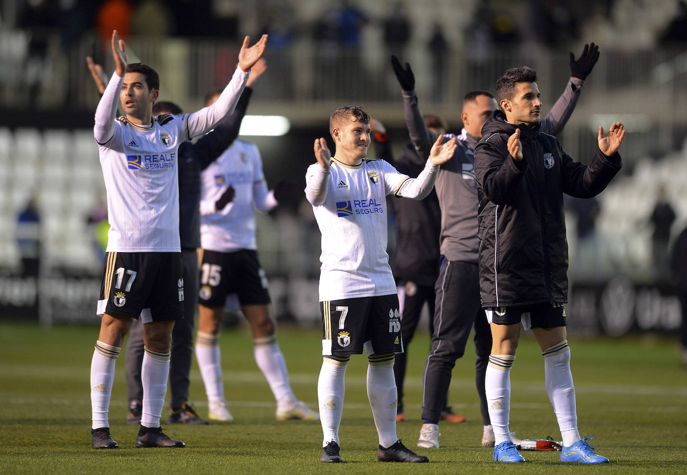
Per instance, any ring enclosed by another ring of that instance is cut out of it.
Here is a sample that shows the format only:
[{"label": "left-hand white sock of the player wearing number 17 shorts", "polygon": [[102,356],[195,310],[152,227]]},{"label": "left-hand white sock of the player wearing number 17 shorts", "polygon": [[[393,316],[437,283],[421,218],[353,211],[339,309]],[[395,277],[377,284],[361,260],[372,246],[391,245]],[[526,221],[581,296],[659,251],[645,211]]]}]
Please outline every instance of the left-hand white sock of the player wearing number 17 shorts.
[{"label": "left-hand white sock of the player wearing number 17 shorts", "polygon": [[112,383],[115,380],[115,360],[121,348],[95,343],[91,360],[91,428],[109,427],[108,419]]}]

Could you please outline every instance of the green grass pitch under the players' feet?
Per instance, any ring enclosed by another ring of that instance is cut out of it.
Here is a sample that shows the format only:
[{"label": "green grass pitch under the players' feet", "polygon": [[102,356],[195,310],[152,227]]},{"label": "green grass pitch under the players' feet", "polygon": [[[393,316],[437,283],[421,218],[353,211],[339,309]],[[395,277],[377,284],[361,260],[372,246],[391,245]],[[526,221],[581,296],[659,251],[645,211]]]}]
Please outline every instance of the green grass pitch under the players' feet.
[{"label": "green grass pitch under the players' feet", "polygon": [[[482,420],[475,392],[474,354],[458,361],[449,402],[468,421],[440,424],[442,447],[418,449],[421,376],[429,347],[426,334],[409,347],[405,406],[409,421],[398,436],[430,463],[376,462],[377,437],[365,392],[366,360],[354,356],[346,374],[341,454],[346,463],[319,463],[319,422],[275,421],[275,404],[256,367],[249,332],[221,336],[228,424],[164,424],[177,450],[136,449],[137,426],[126,424],[124,356],[117,361],[110,408],[119,450],[90,448],[89,367],[98,337],[95,326],[0,323],[0,473],[2,474],[684,474],[687,472],[687,371],[677,344],[655,337],[583,339],[572,336],[572,371],[582,435],[593,435],[610,464],[562,464],[559,452],[522,452],[527,463],[500,464],[480,446]],[[282,326],[278,332],[297,397],[317,406],[322,362],[319,329]],[[545,392],[543,361],[531,335],[523,336],[511,373],[510,429],[521,438],[559,439]],[[207,415],[203,383],[194,362],[191,402]],[[515,466],[514,466],[515,465]]]}]

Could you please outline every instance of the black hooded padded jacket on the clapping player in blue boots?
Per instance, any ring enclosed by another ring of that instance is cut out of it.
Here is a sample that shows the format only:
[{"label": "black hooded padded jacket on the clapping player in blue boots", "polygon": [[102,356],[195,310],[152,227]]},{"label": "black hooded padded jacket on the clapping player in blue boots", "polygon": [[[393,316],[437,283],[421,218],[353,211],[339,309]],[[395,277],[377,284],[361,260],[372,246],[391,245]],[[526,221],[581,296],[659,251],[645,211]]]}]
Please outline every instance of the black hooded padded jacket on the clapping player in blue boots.
[{"label": "black hooded padded jacket on the clapping player in blue boots", "polygon": [[[616,152],[596,150],[589,165],[563,152],[556,137],[506,122],[497,111],[475,148],[479,207],[482,305],[507,307],[567,302],[567,240],[563,193],[596,196],[618,173]],[[523,160],[508,153],[508,137],[520,129]]]}]

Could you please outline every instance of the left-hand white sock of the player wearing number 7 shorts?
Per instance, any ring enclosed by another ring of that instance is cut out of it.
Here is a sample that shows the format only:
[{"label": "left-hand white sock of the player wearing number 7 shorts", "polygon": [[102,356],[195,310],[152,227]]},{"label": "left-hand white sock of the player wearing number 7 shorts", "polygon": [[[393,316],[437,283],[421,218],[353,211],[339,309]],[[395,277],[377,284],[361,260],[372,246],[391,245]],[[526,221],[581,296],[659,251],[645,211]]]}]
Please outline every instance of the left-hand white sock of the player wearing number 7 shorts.
[{"label": "left-hand white sock of the player wearing number 7 shorts", "polygon": [[346,368],[345,361],[323,358],[322,369],[317,379],[317,401],[319,403],[319,421],[322,424],[324,439],[322,447],[331,441],[339,443],[339,426],[343,412],[343,395],[345,391]]}]

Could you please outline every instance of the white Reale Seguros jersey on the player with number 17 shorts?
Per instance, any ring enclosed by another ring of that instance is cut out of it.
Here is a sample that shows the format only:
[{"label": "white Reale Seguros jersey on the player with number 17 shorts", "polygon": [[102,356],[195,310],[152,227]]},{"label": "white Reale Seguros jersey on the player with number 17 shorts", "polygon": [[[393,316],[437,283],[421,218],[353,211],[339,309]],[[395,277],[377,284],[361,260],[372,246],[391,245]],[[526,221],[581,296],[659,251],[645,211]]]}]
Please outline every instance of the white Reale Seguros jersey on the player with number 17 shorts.
[{"label": "white Reale Seguros jersey on the player with number 17 shorts", "polygon": [[149,128],[115,119],[100,148],[110,222],[107,251],[179,252],[177,149],[188,115],[161,115]]}]

